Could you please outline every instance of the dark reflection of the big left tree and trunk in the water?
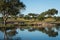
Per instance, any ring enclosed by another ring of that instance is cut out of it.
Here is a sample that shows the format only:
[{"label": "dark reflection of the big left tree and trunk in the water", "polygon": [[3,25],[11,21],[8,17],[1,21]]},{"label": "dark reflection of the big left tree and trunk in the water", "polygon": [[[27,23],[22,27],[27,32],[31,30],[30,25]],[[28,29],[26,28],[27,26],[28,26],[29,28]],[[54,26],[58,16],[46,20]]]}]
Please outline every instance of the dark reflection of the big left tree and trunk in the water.
[{"label": "dark reflection of the big left tree and trunk in the water", "polygon": [[0,30],[4,33],[4,40],[21,40],[20,37],[13,38],[18,33],[16,28],[8,30],[6,30],[6,28],[0,28]]}]

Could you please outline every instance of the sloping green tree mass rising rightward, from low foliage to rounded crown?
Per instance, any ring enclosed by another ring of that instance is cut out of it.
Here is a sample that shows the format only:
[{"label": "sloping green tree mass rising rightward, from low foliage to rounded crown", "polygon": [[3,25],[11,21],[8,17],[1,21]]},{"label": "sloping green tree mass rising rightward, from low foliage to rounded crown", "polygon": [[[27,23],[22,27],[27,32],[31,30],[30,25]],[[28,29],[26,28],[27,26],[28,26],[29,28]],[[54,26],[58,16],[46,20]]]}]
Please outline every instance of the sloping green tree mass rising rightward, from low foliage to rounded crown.
[{"label": "sloping green tree mass rising rightward, from low foliage to rounded crown", "polygon": [[39,20],[43,20],[46,17],[52,17],[53,15],[58,14],[58,10],[56,9],[49,9],[48,11],[42,12],[39,16]]}]

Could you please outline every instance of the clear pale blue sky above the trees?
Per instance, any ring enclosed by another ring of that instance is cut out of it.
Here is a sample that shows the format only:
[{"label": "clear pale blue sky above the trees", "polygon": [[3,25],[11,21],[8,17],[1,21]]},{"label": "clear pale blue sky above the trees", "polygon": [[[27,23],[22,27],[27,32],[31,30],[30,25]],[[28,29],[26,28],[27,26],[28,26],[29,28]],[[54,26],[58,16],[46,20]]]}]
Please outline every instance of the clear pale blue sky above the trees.
[{"label": "clear pale blue sky above the trees", "polygon": [[37,13],[47,11],[48,9],[57,9],[60,16],[60,0],[21,0],[26,5],[26,10],[23,14]]}]

